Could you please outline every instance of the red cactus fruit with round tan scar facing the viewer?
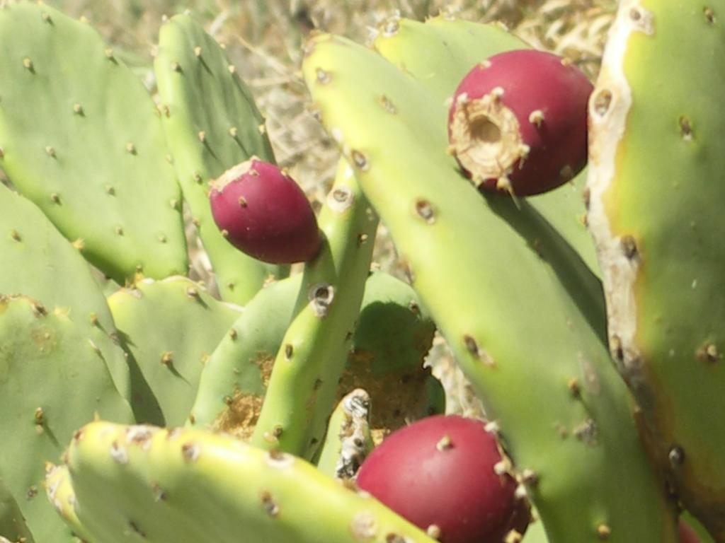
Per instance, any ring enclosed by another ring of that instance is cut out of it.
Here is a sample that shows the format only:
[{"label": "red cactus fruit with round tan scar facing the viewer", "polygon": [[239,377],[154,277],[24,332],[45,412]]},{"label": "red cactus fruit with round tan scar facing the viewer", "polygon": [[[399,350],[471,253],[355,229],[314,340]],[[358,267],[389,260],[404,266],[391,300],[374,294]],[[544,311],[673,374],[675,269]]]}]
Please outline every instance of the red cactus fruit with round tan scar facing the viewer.
[{"label": "red cactus fruit with round tan scar facing the viewer", "polygon": [[593,86],[560,56],[508,51],[473,67],[448,118],[450,150],[477,187],[544,193],[587,164]]}]

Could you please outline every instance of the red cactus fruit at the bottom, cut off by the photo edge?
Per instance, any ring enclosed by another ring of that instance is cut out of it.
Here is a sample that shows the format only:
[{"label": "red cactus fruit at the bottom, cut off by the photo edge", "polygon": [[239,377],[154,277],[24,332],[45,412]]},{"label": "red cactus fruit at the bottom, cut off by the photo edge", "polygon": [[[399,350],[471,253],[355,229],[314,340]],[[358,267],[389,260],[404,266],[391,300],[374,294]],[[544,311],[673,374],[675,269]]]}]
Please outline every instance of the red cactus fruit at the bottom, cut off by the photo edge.
[{"label": "red cactus fruit at the bottom, cut off by the photo edge", "polygon": [[432,416],[399,429],[357,473],[357,485],[443,543],[501,543],[529,523],[483,422]]}]

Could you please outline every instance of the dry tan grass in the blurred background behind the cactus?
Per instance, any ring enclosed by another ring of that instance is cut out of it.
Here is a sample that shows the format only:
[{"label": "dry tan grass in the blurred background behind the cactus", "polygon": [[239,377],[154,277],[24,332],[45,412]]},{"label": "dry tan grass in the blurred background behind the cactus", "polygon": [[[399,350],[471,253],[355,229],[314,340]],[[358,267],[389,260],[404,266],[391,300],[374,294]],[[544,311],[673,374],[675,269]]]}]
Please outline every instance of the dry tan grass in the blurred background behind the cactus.
[{"label": "dry tan grass in the blurred background behind the cactus", "polygon": [[[339,153],[307,111],[308,94],[299,74],[300,46],[312,29],[367,41],[392,16],[424,20],[442,10],[468,20],[499,21],[537,49],[568,56],[596,76],[616,0],[46,0],[73,17],[84,15],[107,41],[125,49],[125,60],[150,88],[154,44],[164,15],[191,9],[227,52],[267,118],[276,157],[305,188],[323,201]],[[190,247],[196,245],[193,232]],[[376,263],[402,277],[384,226]],[[193,273],[209,279],[203,253]],[[481,407],[455,368],[441,338],[431,351],[434,371],[449,398],[448,411],[475,416]]]}]

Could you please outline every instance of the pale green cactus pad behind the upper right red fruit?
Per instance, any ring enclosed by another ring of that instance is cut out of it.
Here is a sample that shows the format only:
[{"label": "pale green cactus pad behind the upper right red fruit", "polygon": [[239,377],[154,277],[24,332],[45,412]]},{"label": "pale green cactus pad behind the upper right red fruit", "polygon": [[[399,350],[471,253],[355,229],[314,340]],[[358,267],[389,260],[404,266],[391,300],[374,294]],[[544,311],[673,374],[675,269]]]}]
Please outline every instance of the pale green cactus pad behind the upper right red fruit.
[{"label": "pale green cactus pad behind the upper right red fruit", "polygon": [[[447,109],[473,66],[494,54],[529,46],[499,25],[439,16],[425,24],[393,18],[381,25],[373,47],[399,70],[415,77]],[[585,170],[568,185],[528,201],[598,275],[597,254],[584,226],[586,182]]]}]

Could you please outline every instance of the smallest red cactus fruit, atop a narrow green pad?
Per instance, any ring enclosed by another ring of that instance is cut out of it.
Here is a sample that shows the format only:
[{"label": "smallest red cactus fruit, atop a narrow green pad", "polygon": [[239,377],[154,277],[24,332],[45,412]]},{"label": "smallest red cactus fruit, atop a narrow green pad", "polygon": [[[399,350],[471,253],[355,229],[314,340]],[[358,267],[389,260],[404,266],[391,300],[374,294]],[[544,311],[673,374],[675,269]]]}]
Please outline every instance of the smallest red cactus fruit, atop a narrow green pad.
[{"label": "smallest red cactus fruit, atop a narrow green pad", "polygon": [[321,237],[307,196],[285,172],[252,157],[212,182],[212,215],[239,251],[272,264],[315,258]]}]

